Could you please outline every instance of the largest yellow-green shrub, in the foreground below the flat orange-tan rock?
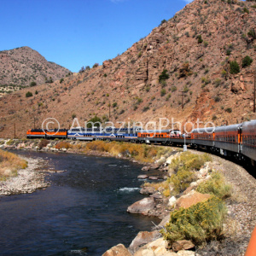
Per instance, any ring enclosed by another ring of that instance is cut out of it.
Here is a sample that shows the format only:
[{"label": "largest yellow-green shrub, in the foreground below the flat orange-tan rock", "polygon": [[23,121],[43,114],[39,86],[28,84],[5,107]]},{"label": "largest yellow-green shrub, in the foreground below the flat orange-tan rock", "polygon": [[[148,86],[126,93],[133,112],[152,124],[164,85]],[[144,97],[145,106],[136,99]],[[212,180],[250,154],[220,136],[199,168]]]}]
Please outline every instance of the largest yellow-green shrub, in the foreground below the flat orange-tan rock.
[{"label": "largest yellow-green shrub, in the foreground below the flat orange-tan rock", "polygon": [[195,245],[220,240],[225,215],[224,202],[212,196],[208,201],[172,212],[170,222],[161,233],[170,245],[177,240],[190,240]]}]

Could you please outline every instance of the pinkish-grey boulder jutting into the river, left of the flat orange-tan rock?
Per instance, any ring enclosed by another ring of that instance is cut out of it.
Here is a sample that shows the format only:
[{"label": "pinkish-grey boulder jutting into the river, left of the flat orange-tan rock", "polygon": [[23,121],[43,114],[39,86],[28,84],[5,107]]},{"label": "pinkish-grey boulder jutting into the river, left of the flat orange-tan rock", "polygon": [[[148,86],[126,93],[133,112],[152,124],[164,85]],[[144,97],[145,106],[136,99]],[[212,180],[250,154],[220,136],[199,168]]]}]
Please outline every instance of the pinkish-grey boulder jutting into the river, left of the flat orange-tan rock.
[{"label": "pinkish-grey boulder jutting into the river, left of the flat orange-tan rock", "polygon": [[147,215],[150,210],[155,207],[154,198],[146,197],[140,201],[135,202],[130,207],[128,207],[127,212],[130,213],[141,213]]}]

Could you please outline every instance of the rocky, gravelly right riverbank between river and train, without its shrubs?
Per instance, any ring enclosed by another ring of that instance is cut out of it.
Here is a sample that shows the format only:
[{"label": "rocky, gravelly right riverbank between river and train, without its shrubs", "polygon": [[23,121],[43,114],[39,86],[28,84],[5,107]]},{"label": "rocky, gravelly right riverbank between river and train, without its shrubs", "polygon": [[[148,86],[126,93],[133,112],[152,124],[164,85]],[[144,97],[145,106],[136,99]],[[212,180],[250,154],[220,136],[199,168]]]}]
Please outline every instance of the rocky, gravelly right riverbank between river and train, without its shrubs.
[{"label": "rocky, gravelly right riverbank between river and train, without its shrubs", "polygon": [[[195,154],[202,154],[193,151]],[[178,155],[167,158],[160,166],[161,172],[166,172],[167,167],[172,164],[172,160]],[[142,172],[146,172],[148,167],[143,167]],[[166,229],[166,224],[170,221],[170,213],[181,208],[188,209],[195,204],[207,201],[212,195],[201,194],[197,188],[202,183],[211,180],[211,175],[219,172],[224,175],[225,183],[230,184],[232,189],[230,195],[225,195],[224,199],[227,207],[227,215],[223,223],[223,238],[220,241],[212,240],[203,246],[195,246],[192,241],[178,240],[168,243],[160,230]],[[148,178],[146,174],[143,176]],[[145,183],[141,193],[147,195],[143,200],[135,202],[128,207],[127,212],[155,216],[161,218],[159,225],[154,226],[151,232],[141,231],[131,242],[128,248],[119,244],[112,247],[103,256],[126,255],[126,256],[174,256],[174,255],[244,255],[253,228],[256,224],[256,180],[247,170],[229,160],[224,160],[212,155],[212,161],[206,162],[196,172],[195,181],[189,184],[183,193],[177,196],[166,196],[163,183],[150,185]],[[172,189],[173,188],[169,188]]]}]

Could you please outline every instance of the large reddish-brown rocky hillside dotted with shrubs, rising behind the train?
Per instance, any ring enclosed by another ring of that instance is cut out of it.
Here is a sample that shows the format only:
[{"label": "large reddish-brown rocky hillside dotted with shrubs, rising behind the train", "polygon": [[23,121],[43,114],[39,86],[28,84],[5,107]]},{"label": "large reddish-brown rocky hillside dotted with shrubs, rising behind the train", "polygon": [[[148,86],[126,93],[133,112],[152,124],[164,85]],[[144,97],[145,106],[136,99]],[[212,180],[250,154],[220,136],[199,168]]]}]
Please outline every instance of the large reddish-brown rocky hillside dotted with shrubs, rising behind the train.
[{"label": "large reddish-brown rocky hillside dotted with shrubs, rising behind the train", "polygon": [[4,96],[1,137],[13,137],[15,124],[16,136],[25,137],[34,120],[40,127],[48,117],[66,128],[74,117],[80,125],[94,115],[106,120],[109,105],[111,121],[256,119],[255,20],[253,2],[195,0],[102,66]]}]

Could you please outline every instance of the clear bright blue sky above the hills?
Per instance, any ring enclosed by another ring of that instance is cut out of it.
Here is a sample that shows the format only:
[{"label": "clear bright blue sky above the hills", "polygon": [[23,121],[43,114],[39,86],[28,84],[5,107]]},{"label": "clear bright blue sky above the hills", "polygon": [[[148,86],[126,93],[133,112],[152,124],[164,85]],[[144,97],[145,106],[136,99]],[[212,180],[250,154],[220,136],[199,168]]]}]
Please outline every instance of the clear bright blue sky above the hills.
[{"label": "clear bright blue sky above the hills", "polygon": [[0,0],[0,50],[29,46],[72,72],[113,59],[191,0]]}]

